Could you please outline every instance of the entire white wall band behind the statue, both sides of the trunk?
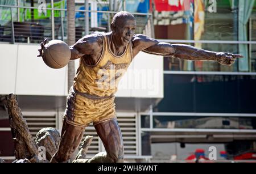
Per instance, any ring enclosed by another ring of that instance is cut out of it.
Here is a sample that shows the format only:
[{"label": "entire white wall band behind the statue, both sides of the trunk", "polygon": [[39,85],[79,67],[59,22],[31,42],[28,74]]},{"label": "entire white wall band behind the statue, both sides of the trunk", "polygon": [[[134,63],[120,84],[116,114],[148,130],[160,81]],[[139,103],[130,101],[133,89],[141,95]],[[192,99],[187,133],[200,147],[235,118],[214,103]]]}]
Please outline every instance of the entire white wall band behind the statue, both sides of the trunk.
[{"label": "entire white wall band behind the statue, both sides of the trunk", "polygon": [[[36,57],[39,45],[0,44],[0,94],[68,94],[67,66],[51,69]],[[79,60],[75,62],[76,68]],[[139,53],[119,83],[117,97],[163,97],[163,58]]]}]

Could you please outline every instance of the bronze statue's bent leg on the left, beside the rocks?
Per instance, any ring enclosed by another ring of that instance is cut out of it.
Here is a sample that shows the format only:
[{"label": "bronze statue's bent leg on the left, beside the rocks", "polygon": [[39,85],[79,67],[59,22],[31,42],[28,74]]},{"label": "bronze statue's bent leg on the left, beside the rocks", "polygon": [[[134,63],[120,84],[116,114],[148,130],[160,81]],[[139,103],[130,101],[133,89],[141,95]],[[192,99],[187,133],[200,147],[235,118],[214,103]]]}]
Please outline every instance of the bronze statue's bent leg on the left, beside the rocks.
[{"label": "bronze statue's bent leg on the left, beside the rocks", "polygon": [[67,162],[76,148],[79,147],[84,131],[85,128],[68,124],[64,119],[60,145],[57,152],[52,156],[51,162]]}]

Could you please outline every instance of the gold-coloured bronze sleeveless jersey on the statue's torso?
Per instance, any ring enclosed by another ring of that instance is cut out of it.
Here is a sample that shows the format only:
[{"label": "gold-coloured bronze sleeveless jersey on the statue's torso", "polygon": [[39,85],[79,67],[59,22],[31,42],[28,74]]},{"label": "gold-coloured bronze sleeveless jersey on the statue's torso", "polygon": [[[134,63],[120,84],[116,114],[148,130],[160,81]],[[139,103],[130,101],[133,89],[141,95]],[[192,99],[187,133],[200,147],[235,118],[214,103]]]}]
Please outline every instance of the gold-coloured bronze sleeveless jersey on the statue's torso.
[{"label": "gold-coloured bronze sleeveless jersey on the statue's torso", "polygon": [[[90,96],[108,97],[117,91],[118,83],[132,60],[131,43],[121,56],[110,50],[109,35],[102,35],[102,54],[96,65],[88,65],[80,58],[79,69],[74,79],[75,90]],[[86,48],[85,48],[86,49]]]}]

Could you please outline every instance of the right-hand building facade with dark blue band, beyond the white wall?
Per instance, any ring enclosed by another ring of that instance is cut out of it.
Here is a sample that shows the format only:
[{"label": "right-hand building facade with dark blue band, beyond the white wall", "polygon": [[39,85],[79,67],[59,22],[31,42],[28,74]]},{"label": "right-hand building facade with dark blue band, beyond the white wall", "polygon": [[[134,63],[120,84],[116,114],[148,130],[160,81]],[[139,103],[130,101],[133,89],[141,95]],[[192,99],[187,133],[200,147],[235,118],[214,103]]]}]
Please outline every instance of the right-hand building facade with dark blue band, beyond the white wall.
[{"label": "right-hand building facade with dark blue band, beyond the white wall", "polygon": [[214,146],[218,160],[255,159],[256,2],[154,2],[155,38],[244,58],[228,67],[165,57],[164,98],[142,117],[144,153],[168,162],[208,158]]}]

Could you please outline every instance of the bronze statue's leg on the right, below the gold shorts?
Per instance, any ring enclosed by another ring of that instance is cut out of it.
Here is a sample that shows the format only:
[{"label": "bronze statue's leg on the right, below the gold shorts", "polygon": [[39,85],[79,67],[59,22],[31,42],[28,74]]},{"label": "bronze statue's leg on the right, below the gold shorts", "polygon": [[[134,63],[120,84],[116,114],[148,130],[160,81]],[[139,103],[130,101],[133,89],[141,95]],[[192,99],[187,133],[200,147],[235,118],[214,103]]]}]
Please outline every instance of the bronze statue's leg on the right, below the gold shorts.
[{"label": "bronze statue's leg on the right, below the gold shorts", "polygon": [[123,138],[117,119],[107,120],[94,125],[98,136],[104,144],[105,152],[101,152],[88,160],[88,163],[122,163]]}]

